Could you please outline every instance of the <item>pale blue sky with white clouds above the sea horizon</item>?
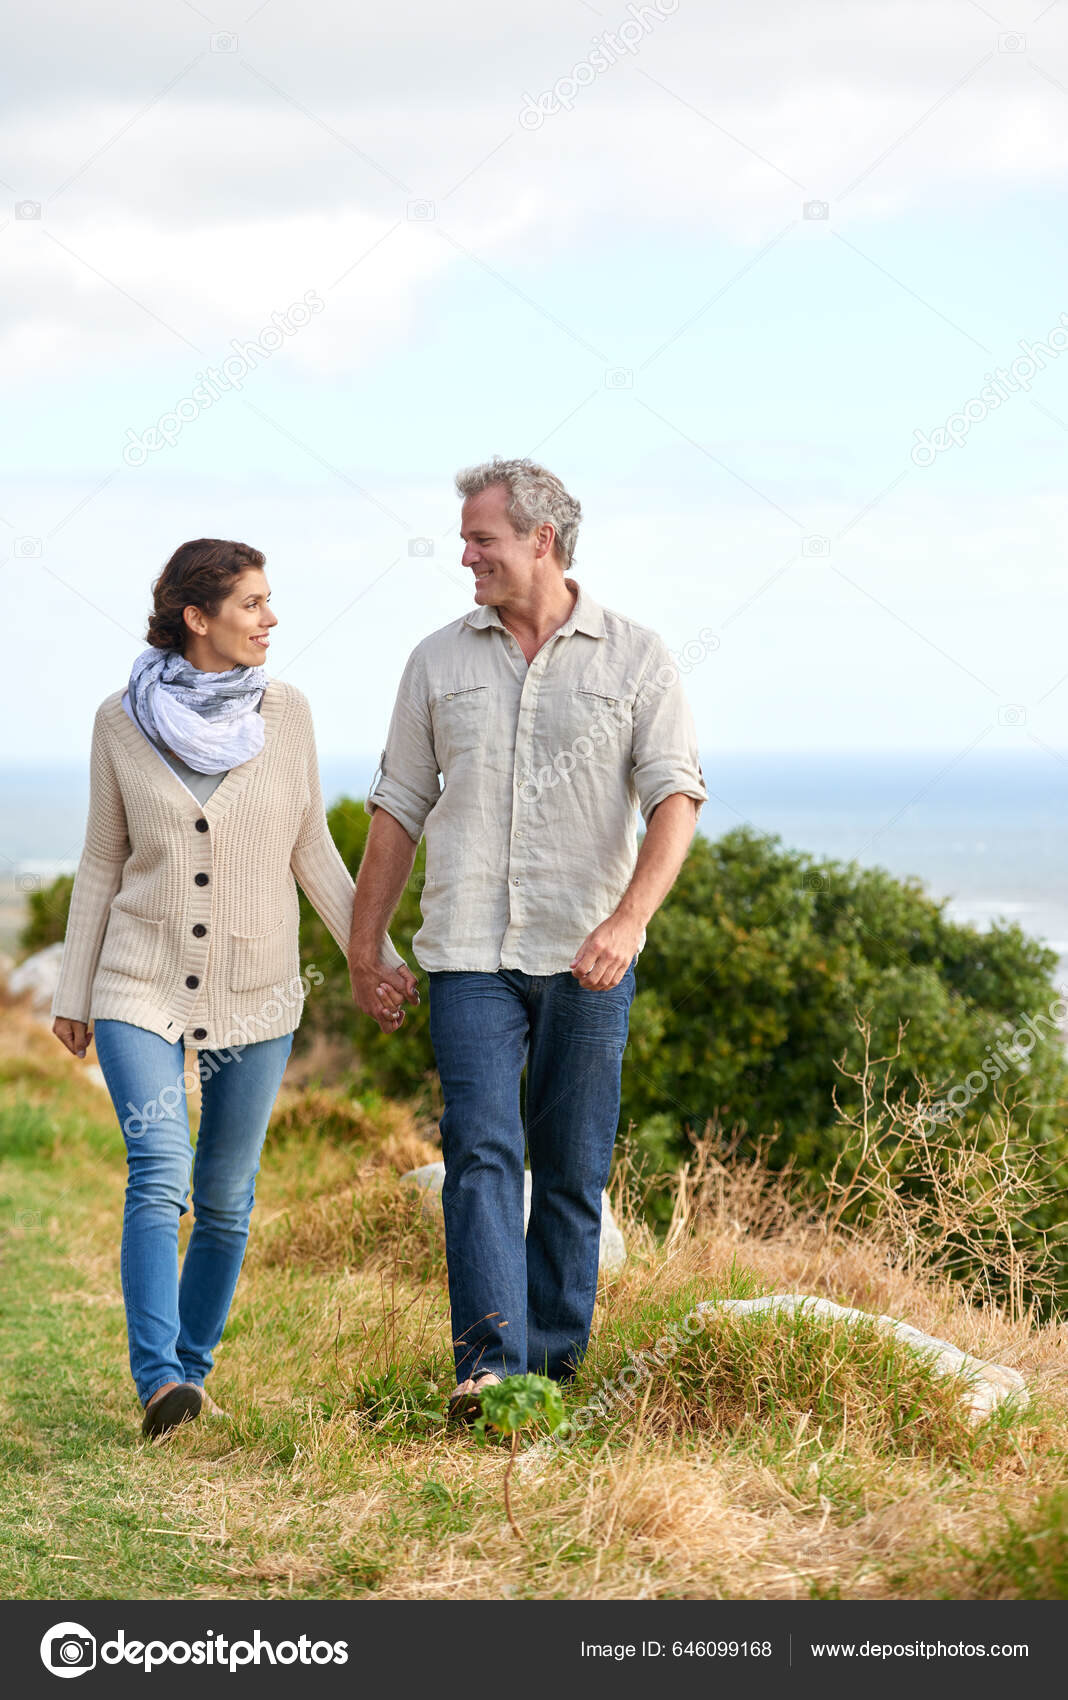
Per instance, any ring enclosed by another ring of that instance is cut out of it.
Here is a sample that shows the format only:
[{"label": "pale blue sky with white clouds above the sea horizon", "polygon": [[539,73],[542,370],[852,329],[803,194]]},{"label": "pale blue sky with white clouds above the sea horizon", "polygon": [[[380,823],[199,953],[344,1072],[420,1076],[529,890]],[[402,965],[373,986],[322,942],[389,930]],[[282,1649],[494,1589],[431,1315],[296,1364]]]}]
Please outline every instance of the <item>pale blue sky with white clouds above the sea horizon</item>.
[{"label": "pale blue sky with white clouds above the sea horizon", "polygon": [[7,37],[2,760],[87,756],[197,536],[267,554],[320,756],[376,753],[471,605],[456,469],[531,454],[599,602],[716,634],[702,751],[1061,782],[1068,3],[39,0]]}]

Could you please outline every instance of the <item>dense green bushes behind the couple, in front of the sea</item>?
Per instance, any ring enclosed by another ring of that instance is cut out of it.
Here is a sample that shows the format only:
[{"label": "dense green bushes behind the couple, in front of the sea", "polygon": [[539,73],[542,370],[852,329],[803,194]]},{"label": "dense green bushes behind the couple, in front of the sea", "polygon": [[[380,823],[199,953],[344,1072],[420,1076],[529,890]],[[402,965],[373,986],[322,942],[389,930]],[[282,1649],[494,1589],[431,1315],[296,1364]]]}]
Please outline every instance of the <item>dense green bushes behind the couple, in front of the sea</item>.
[{"label": "dense green bushes behind the couple, in front of the sea", "polygon": [[[328,824],[355,876],[371,818],[342,799]],[[401,894],[391,937],[415,967],[423,845]],[[63,935],[70,881],[31,896],[24,942]],[[306,1001],[298,1052],[315,1034],[342,1040],[361,1090],[434,1095],[425,976],[418,1008],[396,1034],[381,1034],[352,1003],[344,954],[301,892],[301,960],[323,974]],[[736,828],[697,836],[675,887],[653,916],[638,962],[631,1042],[622,1066],[621,1127],[636,1122],[653,1168],[689,1154],[687,1129],[711,1117],[745,1124],[750,1142],[774,1134],[772,1161],[825,1173],[842,1148],[844,1122],[861,1095],[838,1071],[862,1062],[855,1015],[871,1027],[872,1054],[889,1056],[905,1023],[898,1083],[925,1078],[944,1095],[1002,1052],[1024,1017],[1037,1020],[1029,1054],[1005,1071],[1025,1098],[1014,1136],[1044,1153],[1061,1178],[1068,1153],[1063,1107],[1068,1068],[1056,1027],[1041,1025],[1056,998],[1056,954],[1019,926],[980,933],[946,918],[946,901],[915,879],[883,869],[816,862],[777,838]],[[1041,1018],[1041,1020],[1039,1020]],[[974,1096],[951,1127],[986,1137],[993,1091]],[[1025,1120],[1025,1127],[1024,1127]]]}]

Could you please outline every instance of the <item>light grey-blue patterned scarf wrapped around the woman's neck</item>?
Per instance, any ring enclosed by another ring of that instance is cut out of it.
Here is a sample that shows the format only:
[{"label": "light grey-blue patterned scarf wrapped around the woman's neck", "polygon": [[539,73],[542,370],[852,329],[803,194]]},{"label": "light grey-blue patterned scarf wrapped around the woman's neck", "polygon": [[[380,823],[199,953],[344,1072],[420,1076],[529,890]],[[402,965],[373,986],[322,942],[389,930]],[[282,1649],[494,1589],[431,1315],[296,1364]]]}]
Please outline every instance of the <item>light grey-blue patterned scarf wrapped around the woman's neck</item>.
[{"label": "light grey-blue patterned scarf wrapped around the woman's neck", "polygon": [[143,649],[129,675],[129,702],[141,726],[196,774],[240,767],[264,748],[257,702],[267,668],[201,673],[177,649]]}]

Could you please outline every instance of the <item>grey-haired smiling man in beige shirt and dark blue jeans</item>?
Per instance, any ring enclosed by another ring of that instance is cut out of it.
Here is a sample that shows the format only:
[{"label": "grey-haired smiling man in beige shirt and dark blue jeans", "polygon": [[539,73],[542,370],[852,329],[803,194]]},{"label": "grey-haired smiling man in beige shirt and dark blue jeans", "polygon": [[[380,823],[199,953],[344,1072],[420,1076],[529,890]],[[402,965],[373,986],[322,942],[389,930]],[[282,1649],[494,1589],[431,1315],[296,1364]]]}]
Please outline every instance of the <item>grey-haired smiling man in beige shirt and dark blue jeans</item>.
[{"label": "grey-haired smiling man in beige shirt and dark blue jeans", "polygon": [[359,1006],[400,1025],[379,947],[425,831],[412,949],[446,1107],[451,1414],[471,1418],[488,1382],[563,1380],[587,1348],[634,962],[707,792],[663,643],[566,576],[578,502],[531,461],[456,486],[474,607],[405,666],[350,964]]}]

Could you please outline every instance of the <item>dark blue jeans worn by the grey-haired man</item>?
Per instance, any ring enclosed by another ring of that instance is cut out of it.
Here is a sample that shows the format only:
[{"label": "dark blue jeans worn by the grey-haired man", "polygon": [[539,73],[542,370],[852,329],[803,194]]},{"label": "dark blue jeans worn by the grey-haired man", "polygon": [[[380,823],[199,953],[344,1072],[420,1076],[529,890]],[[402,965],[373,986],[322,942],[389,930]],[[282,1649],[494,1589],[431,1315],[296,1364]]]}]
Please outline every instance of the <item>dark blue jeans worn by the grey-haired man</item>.
[{"label": "dark blue jeans worn by the grey-haired man", "polygon": [[[634,960],[638,960],[634,957]],[[590,1338],[600,1192],[619,1122],[634,962],[609,991],[573,974],[432,972],[456,1379],[565,1380]],[[524,1246],[524,1117],[531,1222]]]}]

